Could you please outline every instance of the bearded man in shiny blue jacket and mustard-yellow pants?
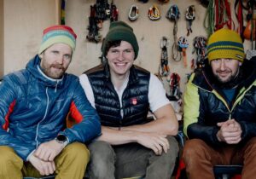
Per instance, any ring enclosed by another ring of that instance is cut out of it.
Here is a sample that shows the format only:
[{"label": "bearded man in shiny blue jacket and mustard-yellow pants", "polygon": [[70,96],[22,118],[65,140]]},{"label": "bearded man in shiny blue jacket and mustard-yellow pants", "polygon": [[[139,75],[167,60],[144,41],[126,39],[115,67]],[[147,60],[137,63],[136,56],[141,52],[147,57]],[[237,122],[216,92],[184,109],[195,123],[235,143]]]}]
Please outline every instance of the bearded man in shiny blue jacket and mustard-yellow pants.
[{"label": "bearded man in shiny blue jacket and mustard-yellow pants", "polygon": [[[79,78],[65,73],[75,49],[69,26],[50,26],[38,55],[26,69],[0,84],[0,177],[83,178],[89,161],[84,146],[101,133]],[[77,124],[67,128],[67,115]]]}]

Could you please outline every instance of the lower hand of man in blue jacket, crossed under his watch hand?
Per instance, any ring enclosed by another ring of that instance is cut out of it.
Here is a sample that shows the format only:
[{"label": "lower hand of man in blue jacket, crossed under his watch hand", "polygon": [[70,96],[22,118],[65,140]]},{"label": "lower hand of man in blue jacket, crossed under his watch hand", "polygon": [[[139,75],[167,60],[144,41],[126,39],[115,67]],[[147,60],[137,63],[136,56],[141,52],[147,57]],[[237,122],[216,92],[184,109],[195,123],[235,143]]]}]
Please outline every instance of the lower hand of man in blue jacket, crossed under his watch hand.
[{"label": "lower hand of man in blue jacket, crossed under his watch hand", "polygon": [[43,161],[35,157],[33,154],[30,156],[29,161],[42,176],[48,176],[49,174],[53,174],[55,172],[54,161]]}]

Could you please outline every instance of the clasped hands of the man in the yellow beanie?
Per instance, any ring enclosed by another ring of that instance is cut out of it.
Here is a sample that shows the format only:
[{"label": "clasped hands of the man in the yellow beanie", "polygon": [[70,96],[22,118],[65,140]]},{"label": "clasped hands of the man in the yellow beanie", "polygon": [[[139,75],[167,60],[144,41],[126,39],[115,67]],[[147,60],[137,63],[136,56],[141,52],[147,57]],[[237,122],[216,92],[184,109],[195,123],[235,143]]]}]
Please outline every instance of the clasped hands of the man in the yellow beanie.
[{"label": "clasped hands of the man in the yellow beanie", "polygon": [[225,141],[228,144],[236,144],[241,141],[241,125],[235,119],[217,125],[220,127],[217,133],[218,141]]}]

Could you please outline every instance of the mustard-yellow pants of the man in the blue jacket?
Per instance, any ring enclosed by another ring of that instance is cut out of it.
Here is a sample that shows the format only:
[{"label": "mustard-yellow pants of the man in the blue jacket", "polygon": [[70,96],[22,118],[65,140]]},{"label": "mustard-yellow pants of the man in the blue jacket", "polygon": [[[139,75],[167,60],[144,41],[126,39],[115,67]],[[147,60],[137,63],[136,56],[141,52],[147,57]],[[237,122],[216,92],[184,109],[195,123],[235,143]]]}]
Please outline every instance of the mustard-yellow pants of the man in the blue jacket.
[{"label": "mustard-yellow pants of the man in the blue jacket", "polygon": [[[73,142],[67,145],[55,158],[55,178],[83,178],[89,155],[89,150],[82,143]],[[0,146],[0,179],[21,179],[25,176],[42,177],[31,163],[20,159],[13,148]]]}]

